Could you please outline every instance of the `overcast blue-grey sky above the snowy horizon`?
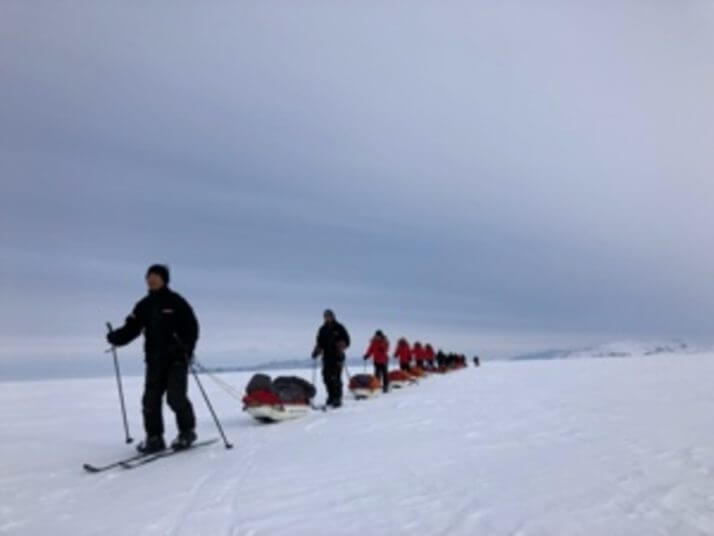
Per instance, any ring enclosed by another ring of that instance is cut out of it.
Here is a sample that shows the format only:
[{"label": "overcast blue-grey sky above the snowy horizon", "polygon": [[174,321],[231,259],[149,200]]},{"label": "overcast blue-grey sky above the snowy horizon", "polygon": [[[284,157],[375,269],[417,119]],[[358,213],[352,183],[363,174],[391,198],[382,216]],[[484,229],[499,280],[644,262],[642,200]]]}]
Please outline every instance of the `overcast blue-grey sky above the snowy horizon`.
[{"label": "overcast blue-grey sky above the snowy horizon", "polygon": [[711,0],[5,0],[0,377],[106,367],[152,262],[211,364],[709,341],[713,57]]}]

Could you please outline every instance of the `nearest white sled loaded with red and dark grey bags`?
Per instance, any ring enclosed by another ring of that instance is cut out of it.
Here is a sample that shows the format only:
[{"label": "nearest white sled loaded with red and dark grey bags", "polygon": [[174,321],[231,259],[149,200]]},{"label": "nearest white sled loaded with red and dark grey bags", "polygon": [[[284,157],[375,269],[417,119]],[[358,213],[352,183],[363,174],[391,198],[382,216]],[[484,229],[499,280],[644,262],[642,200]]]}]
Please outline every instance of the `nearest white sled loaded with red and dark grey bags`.
[{"label": "nearest white sled loaded with red and dark grey bags", "polygon": [[256,374],[248,382],[243,410],[261,422],[281,422],[305,416],[312,409],[315,387],[296,376],[271,380]]}]

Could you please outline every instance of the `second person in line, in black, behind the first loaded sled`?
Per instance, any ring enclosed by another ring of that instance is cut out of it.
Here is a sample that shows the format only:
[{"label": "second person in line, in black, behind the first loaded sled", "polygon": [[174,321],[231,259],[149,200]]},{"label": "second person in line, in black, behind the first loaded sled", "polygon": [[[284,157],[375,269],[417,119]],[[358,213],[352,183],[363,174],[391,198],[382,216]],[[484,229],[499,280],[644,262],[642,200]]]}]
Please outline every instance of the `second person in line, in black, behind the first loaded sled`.
[{"label": "second person in line, in black, behind the first loaded sled", "polygon": [[322,379],[327,389],[327,405],[339,408],[342,405],[342,367],[345,350],[350,346],[350,334],[335,319],[335,313],[326,310],[325,323],[317,332],[317,342],[312,358],[322,355]]}]

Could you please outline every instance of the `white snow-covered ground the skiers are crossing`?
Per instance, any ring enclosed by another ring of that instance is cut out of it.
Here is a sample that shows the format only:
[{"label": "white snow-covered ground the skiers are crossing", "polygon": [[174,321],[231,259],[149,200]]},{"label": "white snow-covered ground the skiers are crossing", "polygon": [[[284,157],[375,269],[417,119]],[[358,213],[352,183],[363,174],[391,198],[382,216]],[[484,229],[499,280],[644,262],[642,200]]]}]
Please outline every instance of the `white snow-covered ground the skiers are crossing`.
[{"label": "white snow-covered ground the skiers are crossing", "polygon": [[95,475],[131,451],[113,378],[0,384],[0,534],[714,534],[714,355],[486,363],[276,425],[202,378],[233,450]]}]

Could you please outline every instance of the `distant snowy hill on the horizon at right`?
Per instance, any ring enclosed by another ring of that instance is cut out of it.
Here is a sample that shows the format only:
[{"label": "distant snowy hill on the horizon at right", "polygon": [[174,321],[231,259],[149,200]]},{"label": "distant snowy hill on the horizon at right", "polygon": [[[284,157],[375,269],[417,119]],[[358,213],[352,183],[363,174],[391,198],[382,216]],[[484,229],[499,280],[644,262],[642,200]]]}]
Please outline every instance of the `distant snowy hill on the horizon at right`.
[{"label": "distant snowy hill on the horizon at right", "polygon": [[691,346],[684,341],[617,341],[574,350],[544,350],[511,358],[512,361],[538,359],[578,359],[596,357],[643,357],[666,354],[696,354],[708,349]]}]

